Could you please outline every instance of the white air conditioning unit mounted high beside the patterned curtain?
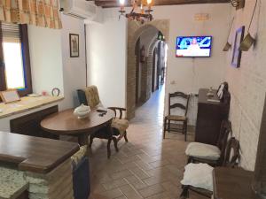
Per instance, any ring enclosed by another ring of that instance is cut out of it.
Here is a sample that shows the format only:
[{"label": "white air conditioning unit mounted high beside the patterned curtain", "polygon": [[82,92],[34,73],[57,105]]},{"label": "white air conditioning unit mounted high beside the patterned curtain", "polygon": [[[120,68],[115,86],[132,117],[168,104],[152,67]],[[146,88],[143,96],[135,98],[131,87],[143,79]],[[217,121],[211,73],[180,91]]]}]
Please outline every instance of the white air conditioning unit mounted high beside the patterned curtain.
[{"label": "white air conditioning unit mounted high beside the patterned curtain", "polygon": [[97,6],[93,1],[60,0],[60,7],[64,14],[79,19],[91,19],[97,14]]}]

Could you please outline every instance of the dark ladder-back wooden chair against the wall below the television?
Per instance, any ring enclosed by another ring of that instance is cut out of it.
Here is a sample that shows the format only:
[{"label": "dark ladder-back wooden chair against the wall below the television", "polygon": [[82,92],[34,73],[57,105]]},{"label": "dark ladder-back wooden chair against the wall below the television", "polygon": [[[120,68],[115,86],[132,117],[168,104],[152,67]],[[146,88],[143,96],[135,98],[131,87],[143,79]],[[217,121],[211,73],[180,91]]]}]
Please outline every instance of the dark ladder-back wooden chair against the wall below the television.
[{"label": "dark ladder-back wooden chair against the wall below the television", "polygon": [[[172,103],[173,99],[184,99],[184,103]],[[165,133],[166,131],[176,131],[176,132],[182,132],[184,134],[184,141],[186,141],[186,132],[187,132],[187,111],[188,111],[188,104],[190,100],[190,95],[186,95],[183,92],[176,92],[176,93],[170,93],[168,96],[168,116],[164,118],[164,127],[163,127],[163,139],[165,139]],[[173,110],[181,110],[184,111],[184,115],[174,115],[172,114]],[[171,121],[175,122],[181,122],[182,128],[175,128],[173,127],[173,123]]]}]

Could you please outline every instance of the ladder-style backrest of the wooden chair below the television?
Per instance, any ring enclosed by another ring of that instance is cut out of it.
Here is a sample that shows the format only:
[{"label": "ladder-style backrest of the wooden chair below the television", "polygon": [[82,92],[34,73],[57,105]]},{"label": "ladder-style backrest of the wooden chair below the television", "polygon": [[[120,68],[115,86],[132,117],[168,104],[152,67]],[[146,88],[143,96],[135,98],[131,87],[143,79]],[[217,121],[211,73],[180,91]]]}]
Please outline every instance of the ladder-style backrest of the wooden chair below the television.
[{"label": "ladder-style backrest of the wooden chair below the television", "polygon": [[[183,98],[186,99],[186,103],[171,103],[171,99],[173,98]],[[187,110],[188,110],[188,105],[189,105],[189,100],[190,100],[190,95],[186,95],[183,92],[177,91],[175,93],[169,93],[169,97],[168,97],[168,114],[171,114],[171,110],[172,109],[182,109],[184,110],[184,116],[186,116],[187,114]]]}]

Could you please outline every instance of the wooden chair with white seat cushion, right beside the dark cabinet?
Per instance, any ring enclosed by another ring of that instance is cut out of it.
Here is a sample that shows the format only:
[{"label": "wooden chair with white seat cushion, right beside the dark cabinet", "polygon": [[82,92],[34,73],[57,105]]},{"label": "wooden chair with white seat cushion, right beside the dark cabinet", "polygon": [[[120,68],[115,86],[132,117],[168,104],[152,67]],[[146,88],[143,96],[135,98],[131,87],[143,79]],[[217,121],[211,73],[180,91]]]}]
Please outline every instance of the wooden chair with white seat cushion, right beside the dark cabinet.
[{"label": "wooden chair with white seat cushion, right beside the dark cabinet", "polygon": [[231,121],[226,119],[222,121],[216,146],[191,142],[185,149],[185,154],[188,156],[188,164],[207,163],[212,166],[222,165],[229,134],[231,134]]}]

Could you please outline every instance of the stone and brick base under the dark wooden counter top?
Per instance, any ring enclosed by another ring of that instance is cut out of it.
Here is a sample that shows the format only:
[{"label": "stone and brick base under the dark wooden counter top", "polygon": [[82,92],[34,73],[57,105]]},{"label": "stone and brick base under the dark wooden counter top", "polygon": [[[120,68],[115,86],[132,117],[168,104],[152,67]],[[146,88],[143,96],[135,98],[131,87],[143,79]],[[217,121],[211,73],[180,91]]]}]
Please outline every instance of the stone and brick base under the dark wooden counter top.
[{"label": "stone and brick base under the dark wooden counter top", "polygon": [[74,199],[71,162],[69,158],[46,174],[0,167],[0,198],[10,198],[5,195],[11,195],[15,188],[26,184],[29,199]]}]

